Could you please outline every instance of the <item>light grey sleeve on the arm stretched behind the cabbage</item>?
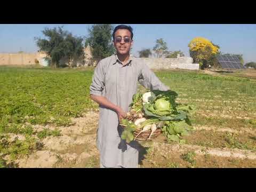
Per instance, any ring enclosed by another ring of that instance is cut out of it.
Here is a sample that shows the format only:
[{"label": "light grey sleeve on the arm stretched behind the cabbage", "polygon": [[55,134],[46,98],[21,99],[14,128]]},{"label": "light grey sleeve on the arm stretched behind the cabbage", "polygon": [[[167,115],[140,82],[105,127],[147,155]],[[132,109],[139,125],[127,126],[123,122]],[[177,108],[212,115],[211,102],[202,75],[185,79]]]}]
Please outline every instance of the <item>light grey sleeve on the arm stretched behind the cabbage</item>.
[{"label": "light grey sleeve on the arm stretched behind the cabbage", "polygon": [[150,90],[161,90],[161,91],[170,90],[168,86],[164,85],[157,78],[155,73],[151,71],[145,63],[142,64],[141,75],[139,76],[138,81],[142,86]]}]

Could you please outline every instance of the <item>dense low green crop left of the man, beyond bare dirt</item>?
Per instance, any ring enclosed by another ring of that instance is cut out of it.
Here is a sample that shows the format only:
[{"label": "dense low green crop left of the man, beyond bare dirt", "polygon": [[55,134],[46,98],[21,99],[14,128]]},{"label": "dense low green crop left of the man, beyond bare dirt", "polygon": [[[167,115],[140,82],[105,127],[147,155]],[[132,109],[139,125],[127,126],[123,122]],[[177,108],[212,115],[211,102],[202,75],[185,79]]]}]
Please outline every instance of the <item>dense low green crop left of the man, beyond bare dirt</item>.
[{"label": "dense low green crop left of the man, beyond bare dirt", "polygon": [[93,71],[0,67],[0,131],[7,124],[68,125],[97,107],[89,98]]}]

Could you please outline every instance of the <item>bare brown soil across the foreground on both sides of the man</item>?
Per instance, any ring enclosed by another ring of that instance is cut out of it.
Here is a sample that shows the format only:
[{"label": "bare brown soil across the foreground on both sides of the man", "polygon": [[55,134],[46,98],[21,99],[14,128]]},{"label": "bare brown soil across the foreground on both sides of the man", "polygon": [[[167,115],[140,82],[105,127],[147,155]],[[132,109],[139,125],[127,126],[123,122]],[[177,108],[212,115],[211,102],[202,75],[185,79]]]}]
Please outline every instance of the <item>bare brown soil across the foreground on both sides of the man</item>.
[{"label": "bare brown soil across the foreground on both sides of the man", "polygon": [[[95,143],[98,119],[99,113],[91,111],[84,117],[72,119],[71,126],[58,127],[62,135],[43,139],[43,150],[19,159],[19,167],[99,167],[99,151]],[[45,127],[56,128],[53,125]],[[185,145],[168,142],[162,134],[154,141],[140,141],[139,167],[255,167],[255,151],[227,148],[227,133],[238,134],[241,143],[250,140],[256,145],[255,130],[241,132],[229,127],[196,126],[195,131],[184,138],[187,140]],[[14,135],[10,136],[14,138]],[[189,152],[195,154],[193,163],[182,158],[182,154]]]}]

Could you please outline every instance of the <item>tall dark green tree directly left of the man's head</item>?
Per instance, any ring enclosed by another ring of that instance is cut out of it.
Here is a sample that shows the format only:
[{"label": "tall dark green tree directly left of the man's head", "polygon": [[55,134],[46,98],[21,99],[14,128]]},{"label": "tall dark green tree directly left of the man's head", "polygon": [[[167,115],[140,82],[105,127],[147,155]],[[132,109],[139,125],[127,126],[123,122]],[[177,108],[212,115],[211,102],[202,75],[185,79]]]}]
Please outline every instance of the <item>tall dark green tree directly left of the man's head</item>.
[{"label": "tall dark green tree directly left of the man's head", "polygon": [[89,36],[85,45],[89,44],[92,55],[97,62],[115,53],[115,47],[111,41],[114,27],[110,24],[97,24],[88,29]]}]

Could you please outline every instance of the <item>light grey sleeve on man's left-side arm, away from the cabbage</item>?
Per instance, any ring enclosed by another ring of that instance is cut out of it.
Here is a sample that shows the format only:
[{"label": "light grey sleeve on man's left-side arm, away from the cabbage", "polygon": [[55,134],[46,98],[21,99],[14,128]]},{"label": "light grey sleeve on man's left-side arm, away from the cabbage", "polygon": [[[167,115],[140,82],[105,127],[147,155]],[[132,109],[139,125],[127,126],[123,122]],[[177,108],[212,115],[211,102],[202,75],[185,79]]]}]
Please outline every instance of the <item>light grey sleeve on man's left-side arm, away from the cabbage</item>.
[{"label": "light grey sleeve on man's left-side arm, away from the cabbage", "polygon": [[105,87],[105,75],[103,72],[102,63],[99,62],[97,67],[94,69],[92,84],[90,86],[90,94],[101,96],[104,87]]}]

